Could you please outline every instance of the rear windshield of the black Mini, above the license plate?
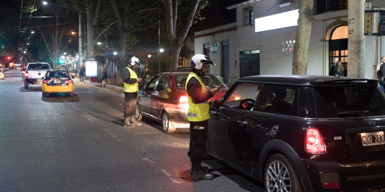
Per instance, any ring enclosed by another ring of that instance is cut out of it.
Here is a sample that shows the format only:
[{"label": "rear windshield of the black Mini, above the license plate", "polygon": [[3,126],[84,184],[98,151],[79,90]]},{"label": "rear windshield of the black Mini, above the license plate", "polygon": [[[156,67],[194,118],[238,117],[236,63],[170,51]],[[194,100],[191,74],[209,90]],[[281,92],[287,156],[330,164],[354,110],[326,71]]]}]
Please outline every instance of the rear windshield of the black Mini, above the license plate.
[{"label": "rear windshield of the black Mini, above the license plate", "polygon": [[313,90],[318,118],[354,115],[359,111],[365,112],[365,116],[385,114],[385,97],[377,86],[314,87]]}]

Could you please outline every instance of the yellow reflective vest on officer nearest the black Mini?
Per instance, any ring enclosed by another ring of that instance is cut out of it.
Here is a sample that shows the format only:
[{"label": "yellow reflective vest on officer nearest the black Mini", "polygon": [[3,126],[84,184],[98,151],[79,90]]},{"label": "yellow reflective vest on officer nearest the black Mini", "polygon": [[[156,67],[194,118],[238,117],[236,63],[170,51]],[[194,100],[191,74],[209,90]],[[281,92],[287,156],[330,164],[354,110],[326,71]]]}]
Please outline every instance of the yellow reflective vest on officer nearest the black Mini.
[{"label": "yellow reflective vest on officer nearest the black Mini", "polygon": [[[202,79],[197,74],[192,73],[192,72],[190,72],[190,74],[188,74],[188,76],[187,76],[185,89],[187,90],[187,83],[192,77],[195,77],[198,79],[199,83],[202,86],[201,93],[205,93],[206,88],[204,87]],[[203,103],[195,104],[194,102],[192,102],[191,97],[188,96],[187,91],[186,91],[186,94],[187,94],[187,100],[189,103],[188,113],[187,113],[188,121],[204,121],[204,120],[209,119],[210,116],[208,115],[208,109],[209,109],[208,101],[206,100]]]}]

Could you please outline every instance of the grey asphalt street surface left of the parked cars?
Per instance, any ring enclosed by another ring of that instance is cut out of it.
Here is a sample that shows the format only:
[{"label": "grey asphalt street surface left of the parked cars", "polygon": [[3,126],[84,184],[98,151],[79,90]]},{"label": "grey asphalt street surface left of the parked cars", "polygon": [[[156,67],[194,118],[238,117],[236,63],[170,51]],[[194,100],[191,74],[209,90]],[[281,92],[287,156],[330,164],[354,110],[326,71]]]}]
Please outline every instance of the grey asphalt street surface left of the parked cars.
[{"label": "grey asphalt street surface left of the parked cars", "polygon": [[264,191],[214,158],[194,180],[189,133],[143,120],[123,127],[124,96],[74,79],[74,96],[24,89],[20,70],[0,80],[0,191]]}]

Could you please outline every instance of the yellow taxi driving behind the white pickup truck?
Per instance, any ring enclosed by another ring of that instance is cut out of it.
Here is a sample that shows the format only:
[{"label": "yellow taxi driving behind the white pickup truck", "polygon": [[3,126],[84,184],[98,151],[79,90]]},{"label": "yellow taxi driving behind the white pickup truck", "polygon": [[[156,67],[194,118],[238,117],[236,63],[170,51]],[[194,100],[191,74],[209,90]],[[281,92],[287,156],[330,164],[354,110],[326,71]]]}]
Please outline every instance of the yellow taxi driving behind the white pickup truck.
[{"label": "yellow taxi driving behind the white pickup truck", "polygon": [[50,93],[68,93],[73,96],[72,76],[67,70],[48,70],[44,75],[42,95],[48,97]]}]

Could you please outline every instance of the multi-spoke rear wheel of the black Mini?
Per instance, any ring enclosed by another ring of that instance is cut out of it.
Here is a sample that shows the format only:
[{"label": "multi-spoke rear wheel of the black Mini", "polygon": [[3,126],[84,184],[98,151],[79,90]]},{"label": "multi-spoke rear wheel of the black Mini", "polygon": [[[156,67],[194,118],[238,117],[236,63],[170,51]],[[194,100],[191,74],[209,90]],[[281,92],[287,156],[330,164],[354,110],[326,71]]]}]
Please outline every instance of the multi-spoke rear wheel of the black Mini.
[{"label": "multi-spoke rear wheel of the black Mini", "polygon": [[293,166],[281,154],[268,159],[264,169],[264,185],[266,191],[303,191]]}]

